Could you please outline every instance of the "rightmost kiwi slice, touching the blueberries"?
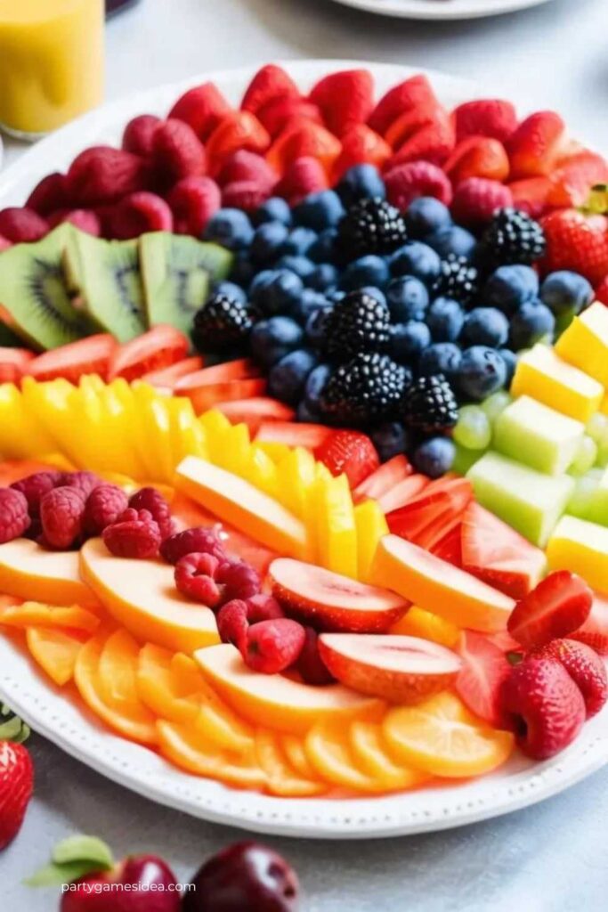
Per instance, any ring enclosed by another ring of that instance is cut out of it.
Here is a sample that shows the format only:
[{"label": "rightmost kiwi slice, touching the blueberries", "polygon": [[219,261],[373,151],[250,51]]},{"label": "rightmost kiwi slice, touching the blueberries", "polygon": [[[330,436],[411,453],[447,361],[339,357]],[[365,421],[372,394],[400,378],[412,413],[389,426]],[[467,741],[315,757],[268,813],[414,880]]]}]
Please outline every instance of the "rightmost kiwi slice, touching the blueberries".
[{"label": "rightmost kiwi slice, touching the blueberries", "polygon": [[168,232],[142,234],[139,259],[149,326],[169,323],[186,334],[211,282],[232,268],[232,254],[219,244]]}]

